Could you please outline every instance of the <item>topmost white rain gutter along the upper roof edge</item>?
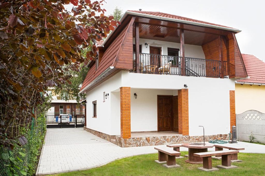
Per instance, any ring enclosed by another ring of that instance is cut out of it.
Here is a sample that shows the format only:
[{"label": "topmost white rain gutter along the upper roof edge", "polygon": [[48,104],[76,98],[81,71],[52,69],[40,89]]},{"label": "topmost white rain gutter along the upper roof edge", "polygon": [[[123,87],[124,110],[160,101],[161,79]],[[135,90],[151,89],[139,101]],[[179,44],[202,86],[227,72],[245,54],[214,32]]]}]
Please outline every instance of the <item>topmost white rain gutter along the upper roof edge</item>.
[{"label": "topmost white rain gutter along the upper roof edge", "polygon": [[[155,19],[159,19],[159,20],[166,20],[166,21],[173,21],[173,22],[180,22],[180,23],[185,23],[185,24],[203,26],[203,27],[211,27],[211,28],[214,28],[214,29],[221,29],[221,30],[233,31],[233,32],[236,32],[236,33],[241,32],[241,30],[239,30],[239,29],[233,29],[233,28],[229,28],[229,27],[223,27],[223,26],[217,26],[217,25],[210,25],[210,24],[200,23],[200,22],[194,22],[194,21],[179,20],[179,19],[175,19],[175,18],[168,18],[168,17],[162,17],[162,16],[148,15],[148,14],[145,14],[145,13],[137,13],[137,12],[130,12],[130,11],[126,11],[122,15],[122,17],[120,19],[120,22],[122,22],[127,15],[135,15],[135,16],[142,16],[142,17],[147,17],[147,18],[155,18]],[[117,27],[118,26],[119,26],[119,24],[117,25]],[[109,33],[109,35],[104,40],[104,42],[102,43],[102,45],[99,45],[98,47],[104,47],[104,44],[106,43],[106,41],[108,40],[108,38],[112,34],[113,34],[113,31],[111,31],[111,33]]]}]

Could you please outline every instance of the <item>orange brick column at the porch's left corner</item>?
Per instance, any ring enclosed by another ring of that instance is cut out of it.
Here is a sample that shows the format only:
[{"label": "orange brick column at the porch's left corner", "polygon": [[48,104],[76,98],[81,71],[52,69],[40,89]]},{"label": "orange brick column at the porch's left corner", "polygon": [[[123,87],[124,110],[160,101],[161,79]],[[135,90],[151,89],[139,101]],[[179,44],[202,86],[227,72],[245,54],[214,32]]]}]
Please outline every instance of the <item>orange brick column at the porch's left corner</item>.
[{"label": "orange brick column at the porch's left corner", "polygon": [[131,138],[131,87],[120,87],[121,137]]}]

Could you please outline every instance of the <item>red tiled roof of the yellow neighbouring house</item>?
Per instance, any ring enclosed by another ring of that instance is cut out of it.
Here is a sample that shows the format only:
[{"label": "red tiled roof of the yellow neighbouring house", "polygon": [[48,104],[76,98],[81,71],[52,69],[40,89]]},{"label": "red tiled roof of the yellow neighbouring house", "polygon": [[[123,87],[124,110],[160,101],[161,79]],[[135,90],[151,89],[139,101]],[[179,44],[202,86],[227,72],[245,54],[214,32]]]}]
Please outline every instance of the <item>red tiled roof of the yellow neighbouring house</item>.
[{"label": "red tiled roof of the yellow neighbouring house", "polygon": [[237,82],[265,84],[265,62],[251,54],[242,54],[242,58],[250,78]]}]

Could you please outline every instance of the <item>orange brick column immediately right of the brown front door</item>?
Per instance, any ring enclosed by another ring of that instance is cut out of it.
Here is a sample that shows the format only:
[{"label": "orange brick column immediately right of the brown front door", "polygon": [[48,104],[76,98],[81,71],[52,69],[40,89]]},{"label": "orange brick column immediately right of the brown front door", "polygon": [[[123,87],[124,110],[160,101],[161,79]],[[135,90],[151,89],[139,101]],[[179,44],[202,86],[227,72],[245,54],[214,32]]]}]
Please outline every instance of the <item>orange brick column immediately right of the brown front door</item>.
[{"label": "orange brick column immediately right of the brown front door", "polygon": [[178,90],[179,134],[189,135],[189,94],[188,89]]}]

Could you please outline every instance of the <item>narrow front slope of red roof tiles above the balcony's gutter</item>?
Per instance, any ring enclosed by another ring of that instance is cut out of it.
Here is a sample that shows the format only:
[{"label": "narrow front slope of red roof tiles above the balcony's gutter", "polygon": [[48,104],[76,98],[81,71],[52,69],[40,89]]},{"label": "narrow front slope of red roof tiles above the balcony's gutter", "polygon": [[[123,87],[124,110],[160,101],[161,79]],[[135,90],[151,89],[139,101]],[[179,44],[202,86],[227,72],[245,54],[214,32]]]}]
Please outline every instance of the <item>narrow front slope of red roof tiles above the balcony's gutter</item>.
[{"label": "narrow front slope of red roof tiles above the balcony's gutter", "polygon": [[[154,15],[154,16],[167,17],[167,18],[173,18],[173,19],[178,19],[178,20],[185,20],[185,21],[192,21],[192,22],[198,22],[198,23],[205,23],[205,24],[215,25],[215,26],[221,26],[221,27],[227,27],[227,26],[218,25],[218,24],[214,24],[214,23],[209,23],[209,22],[205,22],[205,21],[195,20],[195,19],[192,19],[192,18],[186,18],[186,17],[182,17],[182,16],[171,15],[171,14],[168,14],[168,13],[137,11],[137,10],[127,10],[127,11],[129,11],[129,12],[136,12],[136,13],[144,13],[144,14]],[[228,27],[228,28],[235,29],[235,28],[232,28],[232,27]]]}]

